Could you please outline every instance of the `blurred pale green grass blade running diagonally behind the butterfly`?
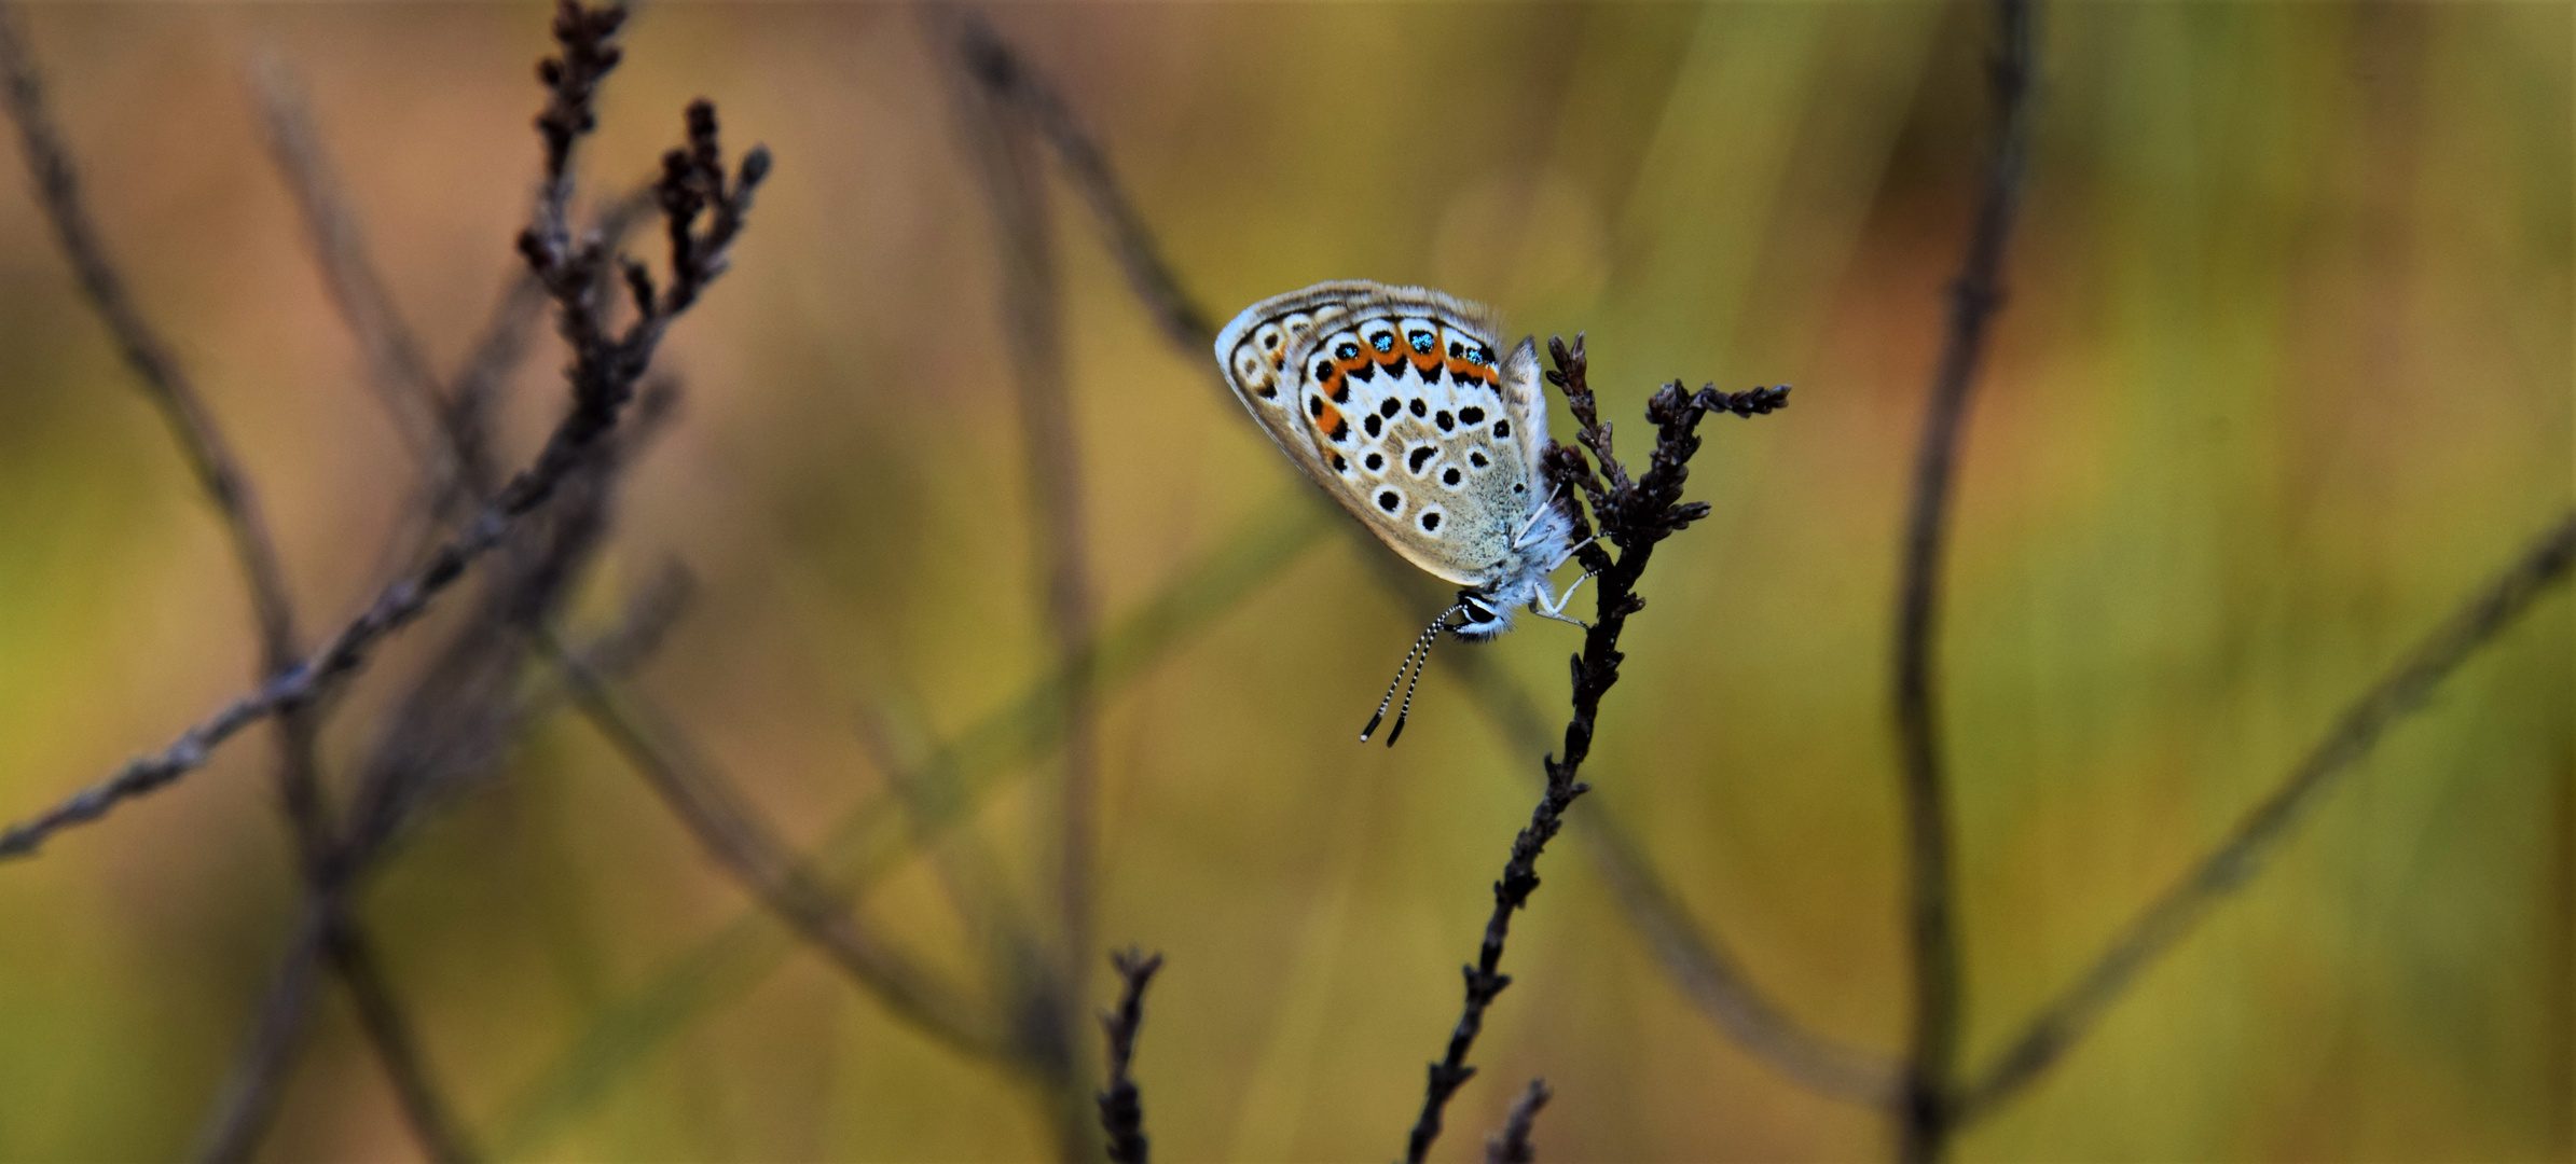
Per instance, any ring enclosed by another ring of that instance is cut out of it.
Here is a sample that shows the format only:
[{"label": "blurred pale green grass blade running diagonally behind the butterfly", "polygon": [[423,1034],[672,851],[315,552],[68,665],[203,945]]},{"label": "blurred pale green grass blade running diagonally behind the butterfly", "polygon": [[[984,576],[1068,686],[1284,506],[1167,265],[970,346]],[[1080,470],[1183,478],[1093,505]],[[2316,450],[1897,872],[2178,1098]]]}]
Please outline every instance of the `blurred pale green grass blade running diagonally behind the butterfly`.
[{"label": "blurred pale green grass blade running diagonally behind the butterfly", "polygon": [[[894,791],[871,796],[832,827],[806,858],[809,865],[853,896],[863,894],[914,852],[922,832],[963,821],[979,796],[1056,747],[1064,734],[1061,690],[1077,667],[1087,667],[1103,693],[1121,690],[1285,572],[1332,518],[1303,484],[1273,497],[1092,652],[1048,670],[1020,698],[940,747],[914,778],[920,796],[912,806]],[[598,1012],[536,1082],[502,1105],[482,1141],[495,1156],[528,1156],[605,1100],[652,1051],[708,1009],[744,997],[793,953],[796,940],[786,927],[762,909],[744,909],[662,966],[641,991]]]}]

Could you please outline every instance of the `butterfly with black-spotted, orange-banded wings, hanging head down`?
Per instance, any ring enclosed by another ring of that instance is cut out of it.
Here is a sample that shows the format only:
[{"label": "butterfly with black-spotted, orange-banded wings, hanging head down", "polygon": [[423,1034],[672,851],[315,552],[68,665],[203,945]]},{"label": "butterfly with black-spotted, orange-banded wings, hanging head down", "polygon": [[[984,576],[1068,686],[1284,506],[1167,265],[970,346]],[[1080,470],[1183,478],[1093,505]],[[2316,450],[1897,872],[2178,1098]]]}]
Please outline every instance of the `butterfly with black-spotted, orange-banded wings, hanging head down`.
[{"label": "butterfly with black-spotted, orange-banded wings, hanging head down", "polygon": [[[1548,448],[1538,348],[1522,337],[1502,353],[1499,335],[1481,304],[1370,281],[1262,299],[1216,335],[1226,386],[1280,453],[1388,549],[1461,587],[1404,654],[1363,742],[1406,672],[1422,682],[1440,631],[1494,639],[1517,605],[1584,626],[1564,613],[1582,579],[1564,592],[1548,582],[1582,546],[1571,500],[1538,469]],[[1388,747],[1412,706],[1404,685]]]}]

